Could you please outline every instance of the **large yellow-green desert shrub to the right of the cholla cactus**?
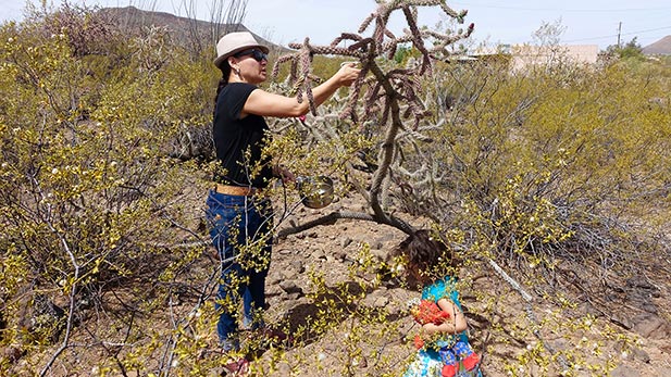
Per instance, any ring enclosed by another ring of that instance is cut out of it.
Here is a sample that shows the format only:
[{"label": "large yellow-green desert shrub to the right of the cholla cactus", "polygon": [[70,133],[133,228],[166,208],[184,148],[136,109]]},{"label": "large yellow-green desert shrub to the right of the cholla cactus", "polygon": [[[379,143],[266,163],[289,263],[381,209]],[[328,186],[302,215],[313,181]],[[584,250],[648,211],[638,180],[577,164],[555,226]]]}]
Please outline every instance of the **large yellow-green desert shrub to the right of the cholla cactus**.
[{"label": "large yellow-green desert shrub to the right of the cholla cactus", "polygon": [[[536,229],[540,218],[552,223],[546,230],[581,237],[583,225],[638,217],[647,194],[663,208],[669,155],[660,136],[668,133],[669,114],[650,102],[664,96],[663,81],[630,74],[611,67],[513,76],[487,64],[437,75],[445,84],[433,84],[442,90],[436,98],[453,103],[446,109],[434,102],[447,120],[428,134],[422,153],[406,153],[412,175],[400,177],[412,181],[417,194],[399,198],[409,199],[409,209],[431,209],[424,214],[439,223],[455,222],[471,203],[493,219],[490,235],[504,239],[515,229]],[[520,236],[521,247],[508,239],[496,242],[498,250],[529,251],[530,239],[550,241],[543,233]]]}]

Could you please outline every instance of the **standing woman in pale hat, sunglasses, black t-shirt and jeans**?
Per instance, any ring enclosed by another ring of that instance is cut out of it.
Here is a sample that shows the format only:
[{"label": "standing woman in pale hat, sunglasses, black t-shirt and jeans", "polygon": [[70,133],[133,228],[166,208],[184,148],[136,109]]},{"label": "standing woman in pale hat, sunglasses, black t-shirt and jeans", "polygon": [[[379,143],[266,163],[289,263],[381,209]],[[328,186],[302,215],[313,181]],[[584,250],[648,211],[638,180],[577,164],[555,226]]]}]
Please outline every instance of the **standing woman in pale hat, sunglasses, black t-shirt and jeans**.
[{"label": "standing woman in pale hat, sunglasses, black t-shirt and jeans", "polygon": [[[222,71],[216,90],[213,138],[221,166],[210,190],[210,236],[222,261],[218,296],[221,315],[218,334],[224,351],[239,350],[236,310],[244,298],[245,323],[263,326],[258,311],[265,306],[265,277],[270,266],[273,212],[262,190],[273,177],[293,180],[290,172],[271,166],[262,156],[269,137],[264,116],[295,117],[309,110],[308,101],[270,93],[257,87],[266,78],[269,49],[247,32],[229,33],[216,43],[214,64]],[[343,66],[333,77],[312,89],[315,105],[338,88],[350,86],[360,70]],[[251,324],[251,322],[254,322]],[[238,360],[237,368],[247,362]]]}]

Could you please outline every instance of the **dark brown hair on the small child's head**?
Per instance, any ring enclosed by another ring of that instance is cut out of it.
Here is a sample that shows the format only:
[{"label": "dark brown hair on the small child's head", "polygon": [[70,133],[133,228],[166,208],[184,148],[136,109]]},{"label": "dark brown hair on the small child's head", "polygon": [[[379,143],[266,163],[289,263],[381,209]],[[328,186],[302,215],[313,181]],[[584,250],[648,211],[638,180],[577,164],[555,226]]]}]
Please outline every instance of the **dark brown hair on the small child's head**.
[{"label": "dark brown hair on the small child's head", "polygon": [[420,229],[400,242],[395,251],[406,262],[422,272],[435,275],[456,274],[458,261],[445,240],[428,229]]}]

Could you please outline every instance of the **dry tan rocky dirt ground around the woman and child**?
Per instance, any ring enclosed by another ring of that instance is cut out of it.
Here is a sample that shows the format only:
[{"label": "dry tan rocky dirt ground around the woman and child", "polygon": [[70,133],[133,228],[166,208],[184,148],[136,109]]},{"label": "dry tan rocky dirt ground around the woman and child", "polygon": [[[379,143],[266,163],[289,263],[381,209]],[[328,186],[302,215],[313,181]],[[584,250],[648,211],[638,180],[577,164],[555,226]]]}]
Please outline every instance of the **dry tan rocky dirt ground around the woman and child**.
[{"label": "dry tan rocky dirt ground around the woman and child", "polygon": [[[281,213],[281,203],[276,201],[275,205],[277,213]],[[285,224],[279,224],[279,228],[288,226],[290,222],[305,224],[337,210],[364,211],[361,202],[351,198],[339,199],[323,210],[299,205]],[[427,221],[421,218],[406,219],[417,228],[428,225]],[[278,239],[266,281],[270,304],[266,322],[284,323],[290,329],[299,329],[311,318],[314,319],[320,310],[310,296],[313,289],[310,281],[312,273],[322,274],[334,294],[343,284],[351,285],[356,279],[371,281],[375,278],[374,274],[363,274],[356,278],[349,275],[350,267],[359,263],[362,247],[370,247],[372,255],[384,259],[403,238],[403,233],[388,226],[365,221],[338,221],[333,225],[314,227]],[[207,260],[202,262],[202,268],[207,269]],[[662,266],[660,271],[670,269],[668,257],[660,260],[659,264]],[[514,272],[508,273],[514,276]],[[407,302],[419,297],[419,293],[394,280],[383,281],[376,287],[359,292],[362,296],[357,304],[385,310],[388,313],[385,326],[374,323],[363,327],[352,326],[353,319],[344,319],[330,326],[331,330],[325,334],[301,336],[299,342],[284,348],[285,352],[276,352],[276,348],[261,348],[251,357],[252,375],[400,376],[415,352],[411,339],[418,330],[407,314]],[[535,287],[523,288],[527,292],[535,292]],[[471,342],[483,357],[483,375],[605,376],[608,365],[608,375],[614,377],[671,376],[671,279],[668,275],[648,276],[643,280],[629,281],[625,288],[620,292],[621,296],[637,298],[647,305],[645,310],[604,313],[582,303],[563,312],[566,322],[552,323],[552,318],[556,318],[551,315],[555,306],[537,293],[533,294],[534,300],[530,306],[493,269],[485,269],[485,273],[473,279],[468,290],[461,291]],[[183,307],[188,311],[194,304],[185,301]],[[492,306],[496,315],[486,314],[492,313]],[[544,324],[542,328],[530,325],[530,307],[536,321]],[[582,319],[586,313],[594,315],[589,324]],[[362,330],[357,332],[357,328]],[[505,336],[501,335],[504,332]],[[211,336],[212,343],[215,343],[215,335]],[[359,340],[358,344],[362,344],[359,350],[348,349],[347,344],[355,338]],[[524,361],[533,360],[534,350],[540,343],[555,352],[555,361],[547,368],[539,362],[520,367],[520,362],[524,364]],[[79,351],[83,357],[74,362],[95,362],[96,355]],[[51,354],[49,351],[45,353],[47,357]],[[560,365],[569,361],[563,354],[577,355],[570,360],[572,366],[564,374]],[[518,365],[515,368],[509,366],[511,361]],[[90,367],[87,369],[94,370]],[[210,375],[225,374],[220,368],[211,370]]]}]

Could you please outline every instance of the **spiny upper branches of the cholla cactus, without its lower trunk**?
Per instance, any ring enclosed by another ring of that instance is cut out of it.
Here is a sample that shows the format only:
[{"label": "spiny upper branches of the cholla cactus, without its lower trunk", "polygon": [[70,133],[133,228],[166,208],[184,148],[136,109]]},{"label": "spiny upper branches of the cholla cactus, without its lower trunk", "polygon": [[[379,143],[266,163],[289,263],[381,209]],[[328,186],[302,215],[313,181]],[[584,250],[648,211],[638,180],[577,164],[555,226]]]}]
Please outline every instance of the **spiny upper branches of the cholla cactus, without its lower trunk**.
[{"label": "spiny upper branches of the cholla cactus, without its lower trunk", "polygon": [[[396,101],[389,100],[394,98],[407,104],[408,110],[406,112],[414,114],[414,125],[417,126],[419,120],[424,116],[425,111],[422,109],[422,103],[417,97],[419,88],[415,77],[431,70],[431,62],[433,59],[443,59],[447,55],[447,46],[469,37],[473,32],[473,24],[468,27],[465,33],[459,30],[455,35],[443,35],[430,29],[420,29],[417,21],[418,7],[440,7],[445,14],[457,20],[458,23],[463,23],[463,17],[467,15],[467,11],[459,13],[455,12],[444,0],[378,1],[377,10],[371,13],[371,15],[361,23],[358,33],[341,33],[330,46],[312,46],[309,38],[306,38],[302,43],[290,43],[289,47],[298,51],[293,54],[281,56],[273,67],[273,76],[278,74],[282,64],[287,62],[290,63],[291,67],[288,80],[294,86],[294,89],[298,90],[300,100],[302,100],[302,92],[306,92],[310,101],[310,109],[312,113],[315,114],[310,86],[313,80],[310,74],[312,56],[316,54],[328,54],[352,58],[360,62],[362,73],[352,86],[348,105],[340,116],[349,116],[355,122],[358,122],[357,113],[363,114],[361,122],[365,123],[365,121],[369,121],[371,117],[382,114],[382,122],[378,123],[384,125],[390,113],[398,113],[400,110],[395,109],[394,103]],[[398,37],[387,28],[389,17],[396,11],[402,12],[408,22],[408,29],[403,30],[405,35]],[[362,34],[371,27],[373,21],[374,26],[372,35],[369,37],[363,36]],[[426,43],[428,39],[431,39],[431,43]],[[350,40],[353,43],[349,47],[340,47],[340,42],[345,40]],[[414,67],[396,68],[384,72],[382,66],[376,62],[376,59],[393,59],[398,46],[408,42],[412,42],[412,46],[422,53],[421,64]],[[427,45],[431,45],[431,47]],[[366,78],[369,73],[373,75]],[[365,86],[368,90],[363,95],[365,101],[361,109],[355,109],[355,104],[359,97],[361,97],[361,90],[364,87],[363,84],[368,84]],[[358,110],[358,112],[356,110]]]}]

